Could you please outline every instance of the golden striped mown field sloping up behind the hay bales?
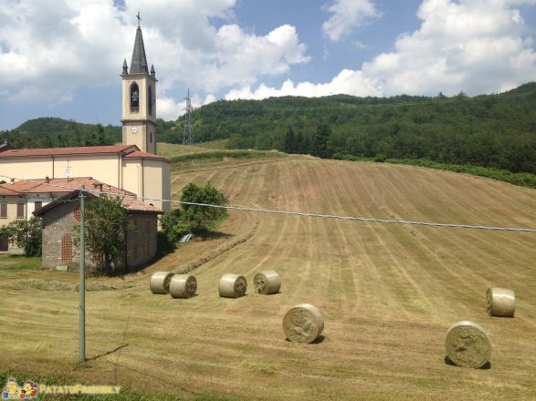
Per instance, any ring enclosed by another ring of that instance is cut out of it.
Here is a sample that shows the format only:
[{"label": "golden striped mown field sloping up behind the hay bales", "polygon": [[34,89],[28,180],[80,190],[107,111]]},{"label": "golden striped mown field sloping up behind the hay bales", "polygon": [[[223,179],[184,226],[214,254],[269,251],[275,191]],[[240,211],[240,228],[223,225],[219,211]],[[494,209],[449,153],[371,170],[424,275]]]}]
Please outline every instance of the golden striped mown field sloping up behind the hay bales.
[{"label": "golden striped mown field sloping up behind the hay bales", "polygon": [[[447,171],[306,156],[226,159],[209,168],[173,166],[173,198],[186,183],[206,180],[233,205],[536,228],[536,190]],[[535,399],[535,244],[531,232],[232,211],[215,235],[182,245],[143,272],[88,280],[95,291],[86,300],[85,365],[78,364],[79,294],[45,285],[74,285],[78,275],[0,273],[0,366],[128,385],[141,394]],[[150,293],[152,272],[195,264],[194,298]],[[280,293],[253,292],[261,270],[279,272]],[[247,277],[246,297],[218,296],[226,272]],[[25,287],[29,280],[43,289]],[[515,318],[486,314],[489,286],[515,290]],[[324,316],[315,344],[290,343],[283,334],[284,314],[304,302]],[[446,363],[445,334],[460,320],[489,334],[489,368]]]}]

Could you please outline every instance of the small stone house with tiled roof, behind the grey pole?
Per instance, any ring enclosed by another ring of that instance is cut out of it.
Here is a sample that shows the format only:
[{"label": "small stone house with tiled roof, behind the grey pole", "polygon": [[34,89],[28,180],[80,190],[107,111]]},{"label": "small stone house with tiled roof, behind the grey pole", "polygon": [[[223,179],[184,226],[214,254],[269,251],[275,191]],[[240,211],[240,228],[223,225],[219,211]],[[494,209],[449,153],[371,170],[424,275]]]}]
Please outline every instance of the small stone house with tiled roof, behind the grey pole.
[{"label": "small stone house with tiled roof, behind the grey pole", "polygon": [[[104,191],[122,197],[121,204],[128,211],[134,229],[126,233],[127,249],[121,264],[126,269],[135,269],[150,262],[157,252],[158,215],[163,211],[151,204],[137,200],[135,195],[109,185]],[[38,211],[36,216],[43,219],[43,239],[41,265],[43,268],[67,266],[69,269],[79,268],[79,226],[80,190],[72,190],[68,194],[48,203]],[[86,204],[99,196],[98,191],[87,194]],[[96,269],[98,259],[86,250],[86,267]]]}]

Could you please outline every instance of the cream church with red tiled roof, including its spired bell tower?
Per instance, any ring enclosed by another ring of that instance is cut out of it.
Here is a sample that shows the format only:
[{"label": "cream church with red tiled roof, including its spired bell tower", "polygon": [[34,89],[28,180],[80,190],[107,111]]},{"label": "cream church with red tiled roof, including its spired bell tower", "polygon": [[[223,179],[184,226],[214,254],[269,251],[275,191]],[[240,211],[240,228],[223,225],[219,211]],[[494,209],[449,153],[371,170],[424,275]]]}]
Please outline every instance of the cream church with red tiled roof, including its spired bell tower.
[{"label": "cream church with red tiled roof, including its spired bell tower", "polygon": [[[131,67],[123,61],[122,143],[56,149],[11,149],[0,147],[0,185],[15,180],[92,178],[136,194],[139,200],[162,211],[170,211],[169,159],[156,154],[156,83],[154,67],[149,70],[142,28],[138,24]],[[4,182],[5,181],[5,182]],[[15,207],[0,195],[0,204]],[[45,206],[43,204],[42,206]],[[5,221],[0,218],[0,225]]]}]

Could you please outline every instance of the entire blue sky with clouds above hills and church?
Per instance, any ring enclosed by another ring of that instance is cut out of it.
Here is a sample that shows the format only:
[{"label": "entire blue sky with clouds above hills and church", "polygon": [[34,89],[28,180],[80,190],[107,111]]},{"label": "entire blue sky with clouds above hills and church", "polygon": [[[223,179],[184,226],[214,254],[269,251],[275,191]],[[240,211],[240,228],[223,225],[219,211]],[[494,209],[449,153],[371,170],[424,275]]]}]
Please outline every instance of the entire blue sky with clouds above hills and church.
[{"label": "entire blue sky with clouds above hills and church", "polygon": [[536,0],[0,0],[0,129],[120,125],[140,10],[157,114],[219,98],[498,93],[536,80]]}]

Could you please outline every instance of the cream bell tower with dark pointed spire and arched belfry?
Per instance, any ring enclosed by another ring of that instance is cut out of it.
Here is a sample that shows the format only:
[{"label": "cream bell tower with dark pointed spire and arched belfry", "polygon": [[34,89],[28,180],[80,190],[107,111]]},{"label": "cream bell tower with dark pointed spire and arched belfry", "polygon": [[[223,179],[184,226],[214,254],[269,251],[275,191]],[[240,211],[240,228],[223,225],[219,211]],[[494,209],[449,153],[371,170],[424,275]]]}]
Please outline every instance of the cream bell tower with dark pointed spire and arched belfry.
[{"label": "cream bell tower with dark pointed spire and arched belfry", "polygon": [[122,143],[156,153],[156,82],[154,67],[147,67],[140,15],[132,51],[131,68],[122,67]]}]

